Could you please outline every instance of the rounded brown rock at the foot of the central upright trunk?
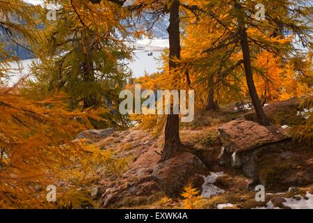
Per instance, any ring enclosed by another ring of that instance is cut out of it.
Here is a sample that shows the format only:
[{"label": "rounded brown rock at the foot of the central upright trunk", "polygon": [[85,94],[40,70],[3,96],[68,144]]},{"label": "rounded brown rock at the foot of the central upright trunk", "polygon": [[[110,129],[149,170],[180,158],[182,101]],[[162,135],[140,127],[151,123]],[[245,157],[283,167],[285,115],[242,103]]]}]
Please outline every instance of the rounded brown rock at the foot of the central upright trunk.
[{"label": "rounded brown rock at the foot of the central upright trunk", "polygon": [[154,168],[152,179],[168,197],[178,197],[183,187],[208,169],[201,160],[191,153],[181,153],[170,160],[161,162]]}]

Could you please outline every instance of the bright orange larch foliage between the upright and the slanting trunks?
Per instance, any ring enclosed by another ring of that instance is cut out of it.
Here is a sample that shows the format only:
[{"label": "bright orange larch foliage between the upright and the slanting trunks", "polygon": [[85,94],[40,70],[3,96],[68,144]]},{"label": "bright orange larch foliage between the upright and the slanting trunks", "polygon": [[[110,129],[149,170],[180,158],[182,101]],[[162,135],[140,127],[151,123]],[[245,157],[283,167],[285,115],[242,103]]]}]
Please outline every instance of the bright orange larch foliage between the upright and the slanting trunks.
[{"label": "bright orange larch foliage between the upright and the slanting trunks", "polygon": [[[207,1],[188,1],[193,8],[202,8]],[[223,17],[227,10],[223,3],[218,4],[215,13]],[[188,6],[186,6],[188,7]],[[190,84],[195,89],[200,109],[215,110],[218,104],[231,102],[238,95],[241,82],[241,60],[232,47],[219,47],[208,50],[220,36],[224,27],[207,13],[187,14],[186,34],[182,42],[181,69],[188,72]]]}]

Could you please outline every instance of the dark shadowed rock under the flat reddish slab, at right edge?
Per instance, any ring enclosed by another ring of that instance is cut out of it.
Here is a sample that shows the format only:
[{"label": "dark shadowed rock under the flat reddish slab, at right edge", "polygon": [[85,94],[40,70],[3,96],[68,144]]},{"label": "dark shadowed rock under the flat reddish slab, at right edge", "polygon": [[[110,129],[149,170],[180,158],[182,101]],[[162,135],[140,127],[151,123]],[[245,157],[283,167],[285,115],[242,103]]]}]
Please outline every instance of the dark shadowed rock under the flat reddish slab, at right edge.
[{"label": "dark shadowed rock under the flat reddish slab, at right edge", "polygon": [[245,154],[243,171],[266,190],[286,191],[291,186],[309,185],[313,183],[312,146],[291,140],[261,146]]}]

